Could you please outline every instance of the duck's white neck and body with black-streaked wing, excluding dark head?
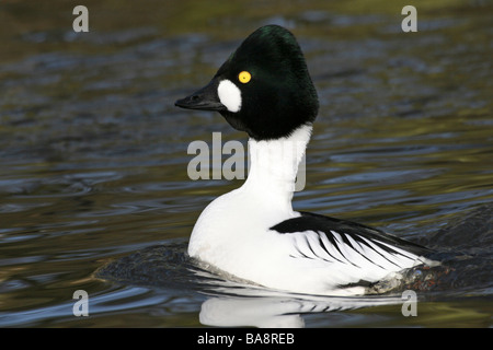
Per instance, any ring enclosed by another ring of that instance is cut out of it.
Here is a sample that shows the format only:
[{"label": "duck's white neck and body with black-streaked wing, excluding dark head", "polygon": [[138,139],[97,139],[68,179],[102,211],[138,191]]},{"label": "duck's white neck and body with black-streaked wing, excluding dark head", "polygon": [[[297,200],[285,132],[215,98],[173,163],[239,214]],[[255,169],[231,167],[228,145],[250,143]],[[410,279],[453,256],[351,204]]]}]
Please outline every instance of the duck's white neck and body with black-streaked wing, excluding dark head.
[{"label": "duck's white neck and body with black-streaked wing, excluding dark head", "polygon": [[356,287],[363,281],[423,264],[419,253],[425,249],[416,245],[293,210],[295,177],[310,131],[306,126],[290,138],[249,140],[248,179],[203,211],[188,254],[241,279],[310,294],[363,293]]}]

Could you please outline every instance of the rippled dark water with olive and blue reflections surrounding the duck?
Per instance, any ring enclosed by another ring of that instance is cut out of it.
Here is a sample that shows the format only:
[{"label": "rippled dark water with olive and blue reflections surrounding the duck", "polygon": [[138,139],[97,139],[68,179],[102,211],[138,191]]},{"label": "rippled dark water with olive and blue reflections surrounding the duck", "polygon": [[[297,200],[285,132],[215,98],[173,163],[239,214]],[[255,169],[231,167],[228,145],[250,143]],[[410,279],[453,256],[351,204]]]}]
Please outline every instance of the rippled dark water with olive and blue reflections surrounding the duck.
[{"label": "rippled dark water with olive and blue reflections surrounding the duck", "polygon": [[[0,326],[491,327],[490,3],[417,1],[409,34],[403,4],[380,2],[84,4],[80,34],[64,1],[0,4]],[[191,180],[187,145],[245,138],[173,102],[267,23],[298,36],[321,102],[295,208],[438,249],[455,272],[417,292],[416,317],[400,293],[278,294],[184,256],[200,211],[241,185]],[[137,252],[156,264],[129,269]],[[127,275],[94,276],[115,260]]]}]

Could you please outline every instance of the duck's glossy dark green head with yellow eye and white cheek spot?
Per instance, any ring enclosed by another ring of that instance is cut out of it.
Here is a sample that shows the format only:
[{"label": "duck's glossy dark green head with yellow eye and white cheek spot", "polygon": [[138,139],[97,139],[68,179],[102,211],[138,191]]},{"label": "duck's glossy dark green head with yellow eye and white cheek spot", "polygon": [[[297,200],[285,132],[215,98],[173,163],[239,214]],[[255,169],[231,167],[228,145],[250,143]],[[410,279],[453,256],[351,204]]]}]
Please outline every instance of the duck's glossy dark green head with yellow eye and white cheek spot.
[{"label": "duck's glossy dark green head with yellow eye and white cheek spot", "polygon": [[295,36],[278,25],[253,32],[213,80],[179,100],[182,108],[218,110],[255,140],[289,136],[317,117],[317,91]]}]

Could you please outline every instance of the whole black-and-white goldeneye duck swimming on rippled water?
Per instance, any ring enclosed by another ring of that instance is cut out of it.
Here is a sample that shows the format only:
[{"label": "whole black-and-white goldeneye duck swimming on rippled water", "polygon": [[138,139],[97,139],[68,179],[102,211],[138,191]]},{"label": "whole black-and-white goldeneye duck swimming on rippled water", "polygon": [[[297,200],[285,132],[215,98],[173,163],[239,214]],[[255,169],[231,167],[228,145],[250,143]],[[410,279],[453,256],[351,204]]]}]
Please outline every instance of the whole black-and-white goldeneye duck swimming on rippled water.
[{"label": "whole black-and-white goldeneye duck swimming on rippled water", "polygon": [[287,28],[250,34],[209,83],[177,100],[218,112],[248,133],[250,171],[198,217],[190,257],[263,288],[319,295],[365,294],[431,250],[356,222],[293,209],[295,182],[319,112],[302,50]]}]

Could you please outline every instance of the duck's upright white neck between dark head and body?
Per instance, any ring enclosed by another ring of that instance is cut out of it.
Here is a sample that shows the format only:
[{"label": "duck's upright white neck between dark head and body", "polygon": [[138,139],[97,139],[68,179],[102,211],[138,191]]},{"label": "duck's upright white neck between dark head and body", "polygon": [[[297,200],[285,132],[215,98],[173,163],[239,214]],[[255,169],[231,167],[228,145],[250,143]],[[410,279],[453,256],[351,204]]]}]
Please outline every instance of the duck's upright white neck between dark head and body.
[{"label": "duck's upright white neck between dark head and body", "polygon": [[295,191],[298,166],[310,141],[312,126],[306,125],[289,137],[256,141],[249,140],[250,172],[242,186],[260,191],[266,200],[290,201]]}]

